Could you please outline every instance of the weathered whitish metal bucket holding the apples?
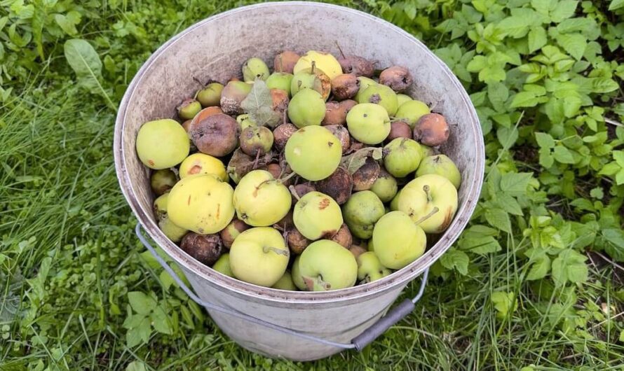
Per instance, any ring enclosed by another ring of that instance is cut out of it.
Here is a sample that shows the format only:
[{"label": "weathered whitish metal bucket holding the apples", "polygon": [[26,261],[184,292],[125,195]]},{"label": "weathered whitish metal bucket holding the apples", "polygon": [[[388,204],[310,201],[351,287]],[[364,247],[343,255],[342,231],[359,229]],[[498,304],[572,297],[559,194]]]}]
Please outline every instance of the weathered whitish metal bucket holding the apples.
[{"label": "weathered whitish metal bucket holding the apples", "polygon": [[[339,55],[337,45],[346,54],[377,60],[378,66],[407,67],[414,75],[409,94],[430,104],[452,125],[442,153],[456,162],[463,181],[459,209],[448,230],[421,258],[384,279],[317,293],[255,286],[224,276],[186,255],[154,220],[149,172],[135,153],[139,127],[156,118],[175,117],[179,101],[198,89],[196,79],[224,82],[239,75],[248,57],[269,62],[286,49]],[[484,144],[475,109],[459,80],[440,59],[416,38],[384,20],[340,6],[306,2],[237,8],[171,38],[142,66],[123,97],[114,155],[121,190],[130,207],[149,237],[182,267],[197,294],[188,290],[191,297],[203,304],[219,328],[240,346],[292,360],[361,349],[407,315],[417,297],[379,319],[407,283],[426,272],[459,237],[475,209],[484,172]],[[140,238],[147,243],[142,235]]]}]

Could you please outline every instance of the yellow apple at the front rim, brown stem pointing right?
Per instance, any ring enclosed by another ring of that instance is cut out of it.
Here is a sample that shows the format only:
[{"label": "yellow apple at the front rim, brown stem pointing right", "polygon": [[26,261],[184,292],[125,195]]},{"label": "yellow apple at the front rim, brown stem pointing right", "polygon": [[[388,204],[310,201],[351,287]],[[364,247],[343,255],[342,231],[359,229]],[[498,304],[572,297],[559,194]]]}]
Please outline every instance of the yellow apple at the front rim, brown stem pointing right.
[{"label": "yellow apple at the front rim, brown stem pointing right", "polygon": [[241,281],[273,286],[286,272],[290,251],[280,232],[256,227],[241,233],[230,248],[232,273]]}]

